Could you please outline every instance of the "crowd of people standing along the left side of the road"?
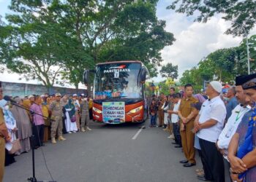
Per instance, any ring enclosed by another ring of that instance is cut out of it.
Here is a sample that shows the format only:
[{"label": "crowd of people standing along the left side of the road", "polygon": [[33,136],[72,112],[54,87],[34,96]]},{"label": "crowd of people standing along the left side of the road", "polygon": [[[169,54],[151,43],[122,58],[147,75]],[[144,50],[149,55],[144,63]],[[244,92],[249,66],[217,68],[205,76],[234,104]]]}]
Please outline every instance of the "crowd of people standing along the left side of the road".
[{"label": "crowd of people standing along the left side of the road", "polygon": [[[4,166],[15,162],[15,155],[29,152],[31,146],[39,149],[49,140],[53,144],[56,139],[65,141],[65,133],[91,130],[92,100],[84,94],[45,93],[8,100],[11,101],[3,99],[0,88],[0,181]],[[31,140],[32,135],[34,137]],[[17,139],[20,149],[11,153]]]}]

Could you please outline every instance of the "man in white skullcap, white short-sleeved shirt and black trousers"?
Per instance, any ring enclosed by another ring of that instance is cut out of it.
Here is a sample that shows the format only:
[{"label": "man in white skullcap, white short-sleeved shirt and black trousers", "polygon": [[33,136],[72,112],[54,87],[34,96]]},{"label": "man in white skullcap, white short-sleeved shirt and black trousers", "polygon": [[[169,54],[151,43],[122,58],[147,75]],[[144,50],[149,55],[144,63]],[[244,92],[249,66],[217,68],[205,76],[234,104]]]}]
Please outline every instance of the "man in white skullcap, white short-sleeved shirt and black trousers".
[{"label": "man in white skullcap, white short-sleeved shirt and black trousers", "polygon": [[199,114],[195,119],[194,131],[197,132],[199,138],[202,157],[206,161],[203,165],[205,173],[204,177],[197,177],[202,181],[225,182],[225,170],[222,154],[219,153],[215,143],[219,138],[224,126],[227,114],[225,104],[219,97],[222,92],[222,84],[212,81],[206,88],[206,100]]}]

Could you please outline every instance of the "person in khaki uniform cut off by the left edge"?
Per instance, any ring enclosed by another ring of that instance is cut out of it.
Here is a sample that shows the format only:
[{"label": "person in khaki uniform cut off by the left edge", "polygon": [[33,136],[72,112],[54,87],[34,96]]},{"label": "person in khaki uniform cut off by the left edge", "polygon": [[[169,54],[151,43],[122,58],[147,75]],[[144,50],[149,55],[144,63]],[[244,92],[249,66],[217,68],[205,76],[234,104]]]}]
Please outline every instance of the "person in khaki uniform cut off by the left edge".
[{"label": "person in khaki uniform cut off by the left edge", "polygon": [[[0,100],[2,99],[3,91],[0,87]],[[0,108],[0,182],[3,181],[4,178],[5,141],[11,141],[11,137],[8,134],[7,127],[4,123],[4,114]]]}]

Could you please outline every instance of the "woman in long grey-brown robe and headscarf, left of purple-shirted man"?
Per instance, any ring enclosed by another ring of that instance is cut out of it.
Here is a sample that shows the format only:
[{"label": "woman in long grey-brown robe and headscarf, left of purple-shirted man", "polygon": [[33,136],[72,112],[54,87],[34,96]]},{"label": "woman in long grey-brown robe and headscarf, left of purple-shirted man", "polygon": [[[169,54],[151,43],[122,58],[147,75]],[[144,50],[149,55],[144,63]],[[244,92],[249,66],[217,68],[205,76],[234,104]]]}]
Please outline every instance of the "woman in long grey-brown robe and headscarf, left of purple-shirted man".
[{"label": "woman in long grey-brown robe and headscarf, left of purple-shirted man", "polygon": [[[20,106],[23,106],[23,100],[21,98],[16,97],[14,100]],[[20,151],[18,151],[17,154],[21,154],[24,151],[29,152],[30,150],[29,137],[31,137],[32,135],[31,122],[29,119],[29,115],[25,109],[15,105],[13,105],[12,108],[10,108],[10,111],[12,112],[12,115],[16,120],[16,124],[18,128],[18,138],[20,139],[21,149]]]}]

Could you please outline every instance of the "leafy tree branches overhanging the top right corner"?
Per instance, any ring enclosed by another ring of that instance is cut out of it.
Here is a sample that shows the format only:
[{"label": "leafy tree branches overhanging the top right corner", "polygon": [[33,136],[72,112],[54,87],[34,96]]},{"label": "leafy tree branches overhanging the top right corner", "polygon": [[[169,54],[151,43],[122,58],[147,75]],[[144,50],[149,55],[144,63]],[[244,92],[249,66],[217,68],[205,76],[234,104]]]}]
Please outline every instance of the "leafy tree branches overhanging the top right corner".
[{"label": "leafy tree branches overhanging the top right corner", "polygon": [[[167,9],[176,9],[176,12],[186,13],[188,16],[196,14],[195,20],[206,23],[211,17],[216,14],[222,15],[226,20],[233,20],[246,28],[248,33],[256,23],[256,2],[252,0],[196,0],[196,1],[173,1]],[[198,15],[199,14],[199,15]],[[226,33],[234,35],[245,34],[241,25],[233,23],[231,28],[228,28]]]}]

